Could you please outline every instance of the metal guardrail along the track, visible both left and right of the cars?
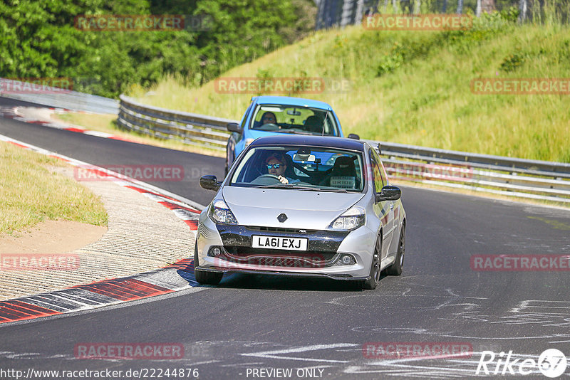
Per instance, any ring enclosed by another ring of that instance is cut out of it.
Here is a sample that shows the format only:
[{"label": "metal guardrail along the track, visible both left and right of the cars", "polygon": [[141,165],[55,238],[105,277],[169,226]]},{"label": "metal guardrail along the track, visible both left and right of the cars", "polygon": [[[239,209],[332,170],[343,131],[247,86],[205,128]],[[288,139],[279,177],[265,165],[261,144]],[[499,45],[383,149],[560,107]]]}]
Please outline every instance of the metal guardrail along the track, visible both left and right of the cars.
[{"label": "metal guardrail along the track, visible both left and right of the cars", "polygon": [[[236,120],[142,105],[120,96],[118,124],[163,139],[225,152]],[[570,203],[570,164],[366,140],[378,146],[393,181]]]}]

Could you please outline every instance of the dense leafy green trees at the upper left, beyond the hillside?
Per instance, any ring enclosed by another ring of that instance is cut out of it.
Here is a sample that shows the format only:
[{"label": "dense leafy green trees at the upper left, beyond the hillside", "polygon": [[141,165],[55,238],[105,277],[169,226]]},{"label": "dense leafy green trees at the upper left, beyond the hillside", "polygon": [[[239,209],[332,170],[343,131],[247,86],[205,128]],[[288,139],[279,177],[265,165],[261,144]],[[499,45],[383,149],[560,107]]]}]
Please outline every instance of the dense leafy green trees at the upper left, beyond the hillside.
[{"label": "dense leafy green trees at the upper left, beyond the hillside", "polygon": [[[312,0],[4,0],[0,77],[69,77],[75,90],[115,97],[165,75],[211,80],[302,38],[314,28]],[[82,31],[79,15],[210,16],[202,31]]]}]

